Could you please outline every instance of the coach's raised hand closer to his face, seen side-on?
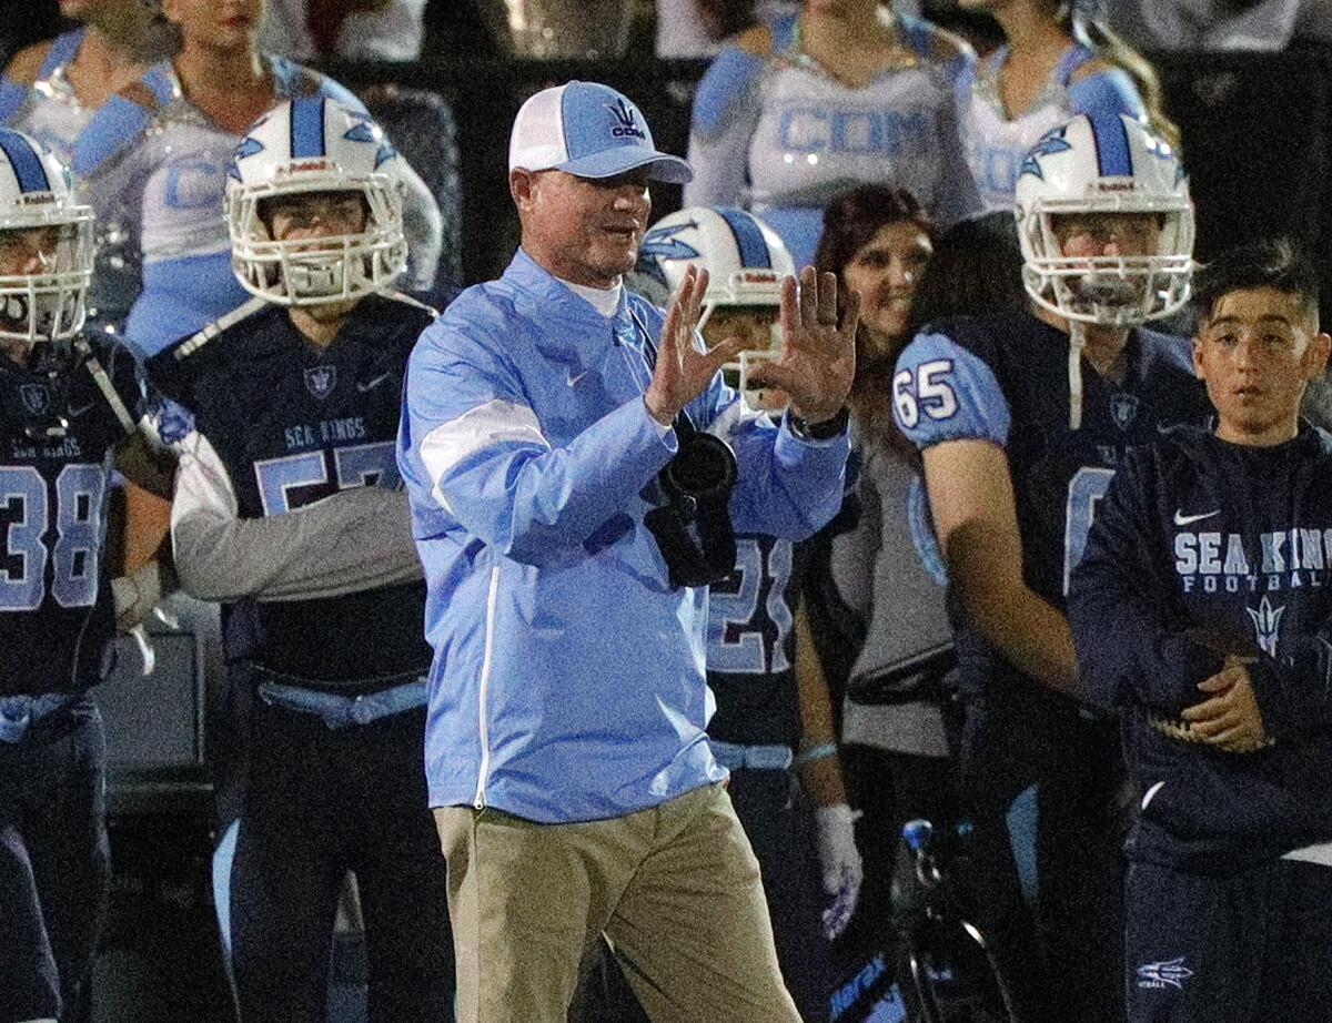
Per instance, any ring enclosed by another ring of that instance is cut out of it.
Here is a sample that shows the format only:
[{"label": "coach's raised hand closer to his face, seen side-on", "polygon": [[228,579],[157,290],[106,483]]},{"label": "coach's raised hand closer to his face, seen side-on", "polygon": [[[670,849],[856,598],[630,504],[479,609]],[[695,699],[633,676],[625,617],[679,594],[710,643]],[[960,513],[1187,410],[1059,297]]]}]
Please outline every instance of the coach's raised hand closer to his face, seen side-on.
[{"label": "coach's raised hand closer to his face, seen side-on", "polygon": [[647,412],[662,426],[670,426],[679,410],[707,389],[722,365],[739,356],[745,344],[738,337],[729,337],[711,352],[701,352],[694,345],[706,293],[707,270],[690,266],[666,310],[657,342],[657,366],[643,394]]}]

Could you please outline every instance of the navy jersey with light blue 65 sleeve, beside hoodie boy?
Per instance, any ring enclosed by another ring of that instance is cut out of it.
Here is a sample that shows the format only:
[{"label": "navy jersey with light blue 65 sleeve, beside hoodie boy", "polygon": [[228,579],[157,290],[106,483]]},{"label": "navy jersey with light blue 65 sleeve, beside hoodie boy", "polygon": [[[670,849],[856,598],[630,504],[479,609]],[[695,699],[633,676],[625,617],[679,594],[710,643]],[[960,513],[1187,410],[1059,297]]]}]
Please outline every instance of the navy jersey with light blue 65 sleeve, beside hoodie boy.
[{"label": "navy jersey with light blue 65 sleeve, beside hoodie boy", "polygon": [[[980,440],[1004,450],[1023,578],[1059,610],[1126,449],[1176,424],[1203,424],[1211,412],[1188,344],[1136,328],[1122,381],[1083,358],[1082,428],[1071,430],[1068,336],[1026,312],[926,326],[898,358],[892,394],[898,426],[919,449]],[[974,631],[960,629],[958,647],[966,690],[1020,686],[1030,694],[1016,669]]]}]

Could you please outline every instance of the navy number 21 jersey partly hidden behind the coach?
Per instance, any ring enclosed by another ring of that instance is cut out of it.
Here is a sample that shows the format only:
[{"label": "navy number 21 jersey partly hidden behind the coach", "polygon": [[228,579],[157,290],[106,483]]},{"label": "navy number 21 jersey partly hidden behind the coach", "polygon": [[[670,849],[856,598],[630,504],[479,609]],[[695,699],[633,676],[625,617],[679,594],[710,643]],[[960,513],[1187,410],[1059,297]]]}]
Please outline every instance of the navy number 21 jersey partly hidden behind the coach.
[{"label": "navy number 21 jersey partly hidden behind the coach", "polygon": [[707,734],[746,746],[793,749],[801,735],[795,685],[795,603],[803,545],[735,538],[735,571],[707,597],[707,685],[717,713]]}]

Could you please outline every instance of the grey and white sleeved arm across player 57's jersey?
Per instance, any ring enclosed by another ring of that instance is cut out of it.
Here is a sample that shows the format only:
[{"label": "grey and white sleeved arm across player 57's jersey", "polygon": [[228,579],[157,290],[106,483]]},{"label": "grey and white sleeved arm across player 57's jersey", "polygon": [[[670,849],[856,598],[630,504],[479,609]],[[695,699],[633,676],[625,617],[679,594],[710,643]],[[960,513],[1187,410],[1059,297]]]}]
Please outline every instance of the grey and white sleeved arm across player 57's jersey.
[{"label": "grey and white sleeved arm across player 57's jersey", "polygon": [[222,460],[197,430],[178,445],[170,529],[181,589],[204,601],[340,597],[421,578],[406,494],[358,486],[240,518]]}]

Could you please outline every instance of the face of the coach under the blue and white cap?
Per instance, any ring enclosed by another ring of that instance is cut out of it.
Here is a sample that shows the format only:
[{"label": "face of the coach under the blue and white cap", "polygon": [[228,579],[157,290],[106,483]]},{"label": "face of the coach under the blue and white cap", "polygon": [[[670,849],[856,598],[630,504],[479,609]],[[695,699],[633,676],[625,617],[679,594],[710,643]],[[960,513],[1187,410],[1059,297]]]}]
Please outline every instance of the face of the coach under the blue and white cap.
[{"label": "face of the coach under the blue and white cap", "polygon": [[557,277],[614,288],[634,268],[653,212],[647,172],[575,177],[563,170],[509,173],[522,246]]}]

